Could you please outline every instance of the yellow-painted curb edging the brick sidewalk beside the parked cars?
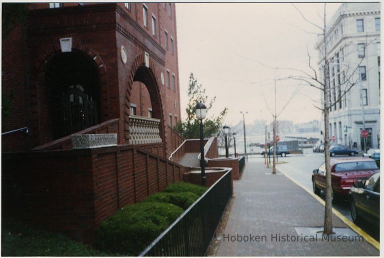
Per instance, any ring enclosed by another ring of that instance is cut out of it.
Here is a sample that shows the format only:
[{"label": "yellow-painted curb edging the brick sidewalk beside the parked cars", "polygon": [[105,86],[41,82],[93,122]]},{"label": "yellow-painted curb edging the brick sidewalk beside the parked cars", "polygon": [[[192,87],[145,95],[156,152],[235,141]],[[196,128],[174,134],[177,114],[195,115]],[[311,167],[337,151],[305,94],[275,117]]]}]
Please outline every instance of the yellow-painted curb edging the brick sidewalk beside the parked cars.
[{"label": "yellow-painted curb edging the brick sidewalk beside the parked cars", "polygon": [[[320,198],[318,197],[317,195],[315,195],[314,193],[308,191],[306,188],[304,188],[300,183],[298,183],[296,180],[294,180],[292,177],[290,177],[289,175],[287,175],[286,173],[284,173],[281,169],[277,168],[276,169],[278,171],[280,171],[280,173],[282,173],[284,176],[286,176],[290,181],[292,181],[293,183],[295,183],[296,185],[298,185],[299,187],[301,187],[305,192],[307,192],[308,194],[310,194],[314,199],[316,199],[319,203],[321,203],[323,206],[325,206],[325,202]],[[368,234],[366,234],[362,229],[360,229],[359,227],[357,227],[353,222],[351,222],[350,220],[348,220],[346,217],[344,217],[343,215],[341,215],[341,213],[339,213],[338,211],[336,211],[335,209],[332,208],[332,213],[334,215],[336,215],[344,224],[346,224],[351,230],[353,230],[354,232],[356,232],[358,235],[360,235],[361,237],[363,237],[363,239],[368,242],[370,245],[372,245],[375,249],[377,249],[378,251],[380,251],[380,243],[376,240],[374,240],[371,236],[369,236]]]}]

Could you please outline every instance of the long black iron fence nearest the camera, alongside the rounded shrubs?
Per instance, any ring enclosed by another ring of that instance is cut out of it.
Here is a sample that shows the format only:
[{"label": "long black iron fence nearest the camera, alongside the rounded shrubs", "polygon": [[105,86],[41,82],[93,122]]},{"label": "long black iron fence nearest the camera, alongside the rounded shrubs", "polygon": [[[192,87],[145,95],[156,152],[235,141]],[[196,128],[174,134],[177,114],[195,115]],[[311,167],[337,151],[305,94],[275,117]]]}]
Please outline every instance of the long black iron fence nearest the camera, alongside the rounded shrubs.
[{"label": "long black iron fence nearest the camera, alongside the rounded shrubs", "polygon": [[139,256],[205,256],[232,196],[226,172]]}]

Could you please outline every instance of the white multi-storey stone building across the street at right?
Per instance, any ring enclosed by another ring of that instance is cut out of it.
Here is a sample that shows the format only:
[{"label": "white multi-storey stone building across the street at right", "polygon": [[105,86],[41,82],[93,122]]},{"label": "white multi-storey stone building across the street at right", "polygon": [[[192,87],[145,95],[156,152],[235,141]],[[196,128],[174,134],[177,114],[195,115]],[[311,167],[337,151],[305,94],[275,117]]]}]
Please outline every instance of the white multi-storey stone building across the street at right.
[{"label": "white multi-storey stone building across the street at right", "polygon": [[[331,144],[364,149],[360,132],[368,131],[366,146],[379,147],[380,134],[380,3],[342,3],[327,24]],[[324,38],[316,44],[324,53]],[[324,60],[318,61],[323,77]],[[345,88],[356,84],[342,96]],[[323,130],[323,123],[321,130]]]}]

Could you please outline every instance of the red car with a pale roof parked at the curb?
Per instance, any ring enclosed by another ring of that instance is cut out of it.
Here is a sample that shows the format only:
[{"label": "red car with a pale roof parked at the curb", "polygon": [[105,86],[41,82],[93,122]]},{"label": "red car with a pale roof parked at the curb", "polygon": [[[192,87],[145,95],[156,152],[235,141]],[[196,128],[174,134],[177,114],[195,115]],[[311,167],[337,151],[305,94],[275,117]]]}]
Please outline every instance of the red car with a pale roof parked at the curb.
[{"label": "red car with a pale roof parked at the curb", "polygon": [[[366,180],[379,172],[376,162],[368,158],[330,159],[332,196],[346,197],[355,182]],[[325,162],[312,173],[313,192],[317,195],[325,191]]]}]

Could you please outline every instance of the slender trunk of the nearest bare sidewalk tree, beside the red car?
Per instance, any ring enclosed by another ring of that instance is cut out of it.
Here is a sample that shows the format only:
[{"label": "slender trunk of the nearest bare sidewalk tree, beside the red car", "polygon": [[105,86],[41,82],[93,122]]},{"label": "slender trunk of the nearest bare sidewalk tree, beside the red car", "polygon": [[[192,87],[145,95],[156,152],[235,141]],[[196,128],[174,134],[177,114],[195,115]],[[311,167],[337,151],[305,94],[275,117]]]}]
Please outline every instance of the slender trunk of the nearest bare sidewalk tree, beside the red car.
[{"label": "slender trunk of the nearest bare sidewalk tree, beside the red car", "polygon": [[329,157],[329,64],[327,60],[327,47],[326,47],[326,16],[325,16],[324,3],[324,157],[325,157],[325,212],[324,212],[324,231],[323,234],[332,234],[332,185],[331,185],[331,172],[330,172],[330,157]]}]

